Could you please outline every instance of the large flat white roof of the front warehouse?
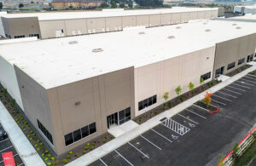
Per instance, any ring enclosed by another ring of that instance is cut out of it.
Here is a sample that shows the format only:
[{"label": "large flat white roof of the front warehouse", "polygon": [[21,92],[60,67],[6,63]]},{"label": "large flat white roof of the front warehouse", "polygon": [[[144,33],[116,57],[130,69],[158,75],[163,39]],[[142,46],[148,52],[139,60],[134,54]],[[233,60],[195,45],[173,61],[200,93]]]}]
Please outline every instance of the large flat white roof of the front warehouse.
[{"label": "large flat white roof of the front warehouse", "polygon": [[50,89],[130,66],[147,66],[255,32],[253,23],[197,20],[175,26],[3,44],[0,54]]}]

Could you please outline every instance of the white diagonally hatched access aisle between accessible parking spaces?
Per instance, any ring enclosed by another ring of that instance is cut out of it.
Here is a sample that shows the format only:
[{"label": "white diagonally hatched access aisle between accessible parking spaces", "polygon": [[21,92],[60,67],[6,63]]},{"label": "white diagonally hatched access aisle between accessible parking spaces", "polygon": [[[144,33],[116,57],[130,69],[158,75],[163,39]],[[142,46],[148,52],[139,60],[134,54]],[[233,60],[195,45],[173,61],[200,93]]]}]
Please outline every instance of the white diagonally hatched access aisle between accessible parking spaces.
[{"label": "white diagonally hatched access aisle between accessible parking spaces", "polygon": [[178,135],[185,135],[187,132],[189,132],[189,128],[184,126],[181,123],[177,123],[175,120],[172,120],[172,118],[166,119],[162,125],[166,126],[168,129],[172,129],[175,133]]}]

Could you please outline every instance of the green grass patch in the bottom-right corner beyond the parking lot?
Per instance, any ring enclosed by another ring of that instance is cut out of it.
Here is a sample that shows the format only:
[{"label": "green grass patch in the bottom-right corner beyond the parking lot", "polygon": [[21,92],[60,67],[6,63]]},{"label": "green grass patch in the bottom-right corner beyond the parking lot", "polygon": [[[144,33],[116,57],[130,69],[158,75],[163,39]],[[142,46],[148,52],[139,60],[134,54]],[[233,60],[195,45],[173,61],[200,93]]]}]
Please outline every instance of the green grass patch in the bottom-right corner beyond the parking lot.
[{"label": "green grass patch in the bottom-right corner beyond the parking lot", "polygon": [[234,166],[247,165],[250,161],[256,157],[256,141],[254,140],[253,144],[247,148],[247,151],[243,153],[241,157],[236,161]]}]

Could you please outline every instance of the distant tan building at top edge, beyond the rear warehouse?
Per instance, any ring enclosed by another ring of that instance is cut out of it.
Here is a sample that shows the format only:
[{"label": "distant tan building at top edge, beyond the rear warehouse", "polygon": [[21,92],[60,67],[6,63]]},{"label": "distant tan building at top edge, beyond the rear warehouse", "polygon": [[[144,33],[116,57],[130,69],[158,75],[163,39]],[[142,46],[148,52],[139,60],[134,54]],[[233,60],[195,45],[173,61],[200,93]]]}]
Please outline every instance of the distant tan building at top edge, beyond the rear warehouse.
[{"label": "distant tan building at top edge, beyond the rear warehouse", "polygon": [[56,9],[73,8],[90,8],[98,7],[103,3],[102,0],[53,0],[52,6]]}]

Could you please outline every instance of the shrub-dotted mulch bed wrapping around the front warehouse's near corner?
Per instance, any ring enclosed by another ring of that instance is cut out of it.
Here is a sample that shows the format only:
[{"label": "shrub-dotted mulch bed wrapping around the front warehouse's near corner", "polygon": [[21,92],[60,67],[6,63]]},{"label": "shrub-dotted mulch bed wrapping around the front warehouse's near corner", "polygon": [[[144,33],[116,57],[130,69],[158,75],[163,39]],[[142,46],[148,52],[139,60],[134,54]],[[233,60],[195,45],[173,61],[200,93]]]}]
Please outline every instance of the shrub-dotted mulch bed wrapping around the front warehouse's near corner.
[{"label": "shrub-dotted mulch bed wrapping around the front warehouse's near corner", "polygon": [[38,135],[38,131],[31,126],[32,124],[28,122],[24,113],[21,113],[16,107],[15,100],[10,98],[7,89],[1,89],[2,87],[3,86],[0,84],[0,100],[47,165],[64,165],[69,163],[114,138],[113,135],[105,133],[87,142],[84,146],[79,146],[74,151],[68,152],[66,156],[55,157],[55,154],[49,150],[48,146],[44,145],[45,141],[42,139],[41,135]]}]

